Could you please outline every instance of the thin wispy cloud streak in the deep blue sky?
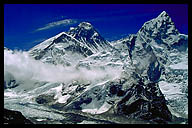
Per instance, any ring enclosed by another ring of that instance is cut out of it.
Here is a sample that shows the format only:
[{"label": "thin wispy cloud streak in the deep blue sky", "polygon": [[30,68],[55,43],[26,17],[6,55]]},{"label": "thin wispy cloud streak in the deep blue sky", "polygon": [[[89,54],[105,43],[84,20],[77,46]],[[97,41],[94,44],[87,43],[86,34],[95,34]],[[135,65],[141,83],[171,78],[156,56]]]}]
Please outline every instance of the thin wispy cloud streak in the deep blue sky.
[{"label": "thin wispy cloud streak in the deep blue sky", "polygon": [[59,21],[48,23],[44,27],[38,28],[35,31],[47,30],[47,29],[54,28],[54,27],[57,27],[57,26],[60,26],[60,25],[67,26],[67,25],[72,25],[72,24],[75,24],[75,23],[77,23],[77,21],[74,20],[74,19],[59,20]]}]

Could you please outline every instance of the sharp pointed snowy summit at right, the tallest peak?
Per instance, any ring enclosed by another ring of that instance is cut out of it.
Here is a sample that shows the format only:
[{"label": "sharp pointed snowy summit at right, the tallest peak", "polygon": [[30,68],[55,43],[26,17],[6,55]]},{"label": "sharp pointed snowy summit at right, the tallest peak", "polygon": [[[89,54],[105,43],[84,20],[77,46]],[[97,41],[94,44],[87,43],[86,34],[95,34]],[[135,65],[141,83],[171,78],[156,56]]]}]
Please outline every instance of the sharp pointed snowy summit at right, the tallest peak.
[{"label": "sharp pointed snowy summit at right, the tallest peak", "polygon": [[153,43],[152,40],[155,40],[158,45],[171,46],[179,41],[180,32],[176,29],[171,17],[163,11],[156,18],[145,22],[137,34],[147,43]]}]

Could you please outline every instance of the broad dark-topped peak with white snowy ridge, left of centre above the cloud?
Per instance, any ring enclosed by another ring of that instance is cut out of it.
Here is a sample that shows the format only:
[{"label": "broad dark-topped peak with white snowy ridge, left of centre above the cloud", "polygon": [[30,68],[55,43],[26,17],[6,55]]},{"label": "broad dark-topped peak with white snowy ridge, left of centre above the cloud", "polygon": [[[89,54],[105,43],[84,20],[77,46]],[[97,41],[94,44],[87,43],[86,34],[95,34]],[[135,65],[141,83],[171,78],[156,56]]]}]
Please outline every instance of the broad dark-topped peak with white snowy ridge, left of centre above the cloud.
[{"label": "broad dark-topped peak with white snowy ridge, left of centre above the cloud", "polygon": [[109,42],[90,23],[82,22],[69,32],[59,33],[33,47],[29,53],[43,62],[69,66],[99,50],[109,48]]}]

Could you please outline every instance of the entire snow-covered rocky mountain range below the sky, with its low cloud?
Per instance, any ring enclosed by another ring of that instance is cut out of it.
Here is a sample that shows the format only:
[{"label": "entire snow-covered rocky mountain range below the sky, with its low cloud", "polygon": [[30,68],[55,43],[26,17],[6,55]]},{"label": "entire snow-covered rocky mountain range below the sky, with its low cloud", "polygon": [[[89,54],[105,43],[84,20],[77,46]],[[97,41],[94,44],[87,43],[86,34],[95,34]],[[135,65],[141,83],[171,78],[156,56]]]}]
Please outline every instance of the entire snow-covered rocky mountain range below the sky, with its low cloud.
[{"label": "entire snow-covered rocky mountain range below the sky, with its low cloud", "polygon": [[82,22],[4,48],[4,70],[4,107],[33,123],[188,122],[188,36],[165,11],[113,42]]}]

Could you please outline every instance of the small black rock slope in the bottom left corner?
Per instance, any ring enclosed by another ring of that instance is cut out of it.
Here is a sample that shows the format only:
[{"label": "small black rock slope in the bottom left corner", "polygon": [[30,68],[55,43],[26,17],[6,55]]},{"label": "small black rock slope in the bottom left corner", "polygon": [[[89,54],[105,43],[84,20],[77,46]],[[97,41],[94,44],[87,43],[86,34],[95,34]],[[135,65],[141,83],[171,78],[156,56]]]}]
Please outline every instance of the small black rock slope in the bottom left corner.
[{"label": "small black rock slope in the bottom left corner", "polygon": [[21,112],[4,109],[4,124],[33,124]]}]

